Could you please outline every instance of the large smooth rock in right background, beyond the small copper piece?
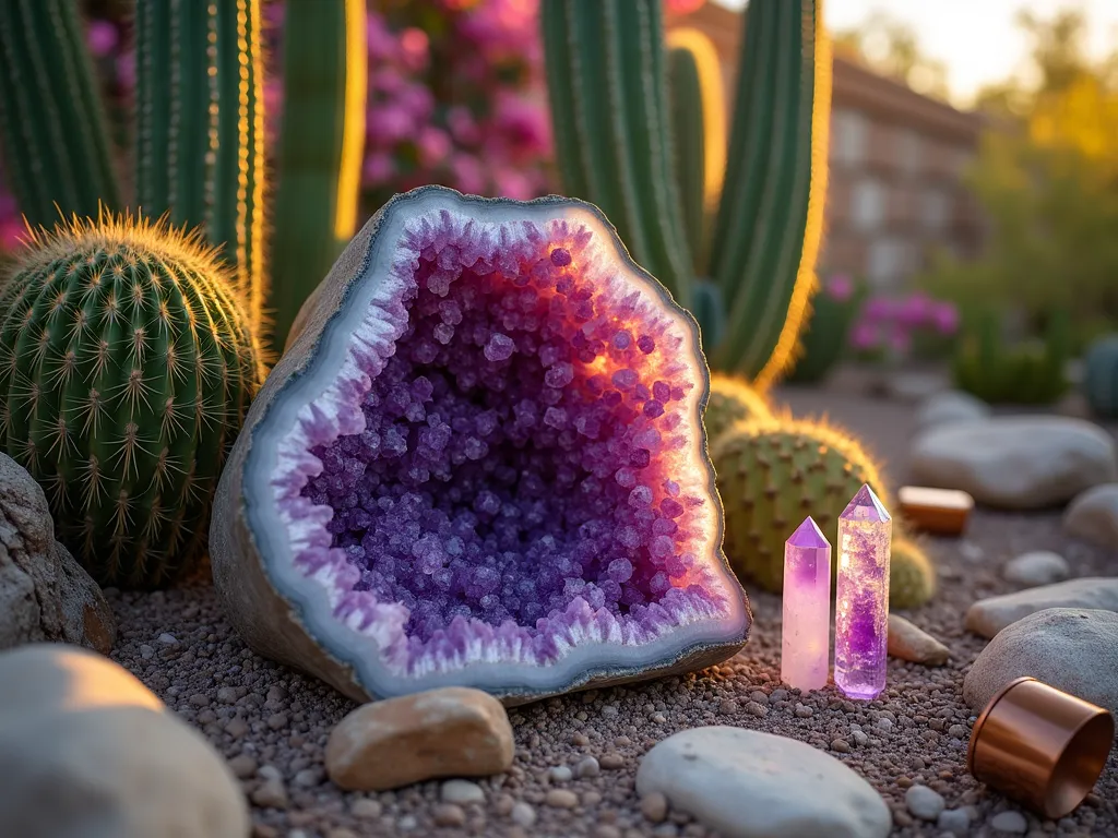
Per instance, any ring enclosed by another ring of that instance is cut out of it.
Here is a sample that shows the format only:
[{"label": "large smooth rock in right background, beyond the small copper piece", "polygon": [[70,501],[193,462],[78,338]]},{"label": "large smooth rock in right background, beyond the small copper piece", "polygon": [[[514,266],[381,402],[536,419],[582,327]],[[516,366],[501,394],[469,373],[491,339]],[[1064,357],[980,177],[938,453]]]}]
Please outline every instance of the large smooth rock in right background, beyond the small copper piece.
[{"label": "large smooth rock in right background, beyond the small copper piece", "polygon": [[1008,416],[953,422],[917,437],[912,482],[968,492],[1010,510],[1062,504],[1118,479],[1115,441],[1082,419]]}]

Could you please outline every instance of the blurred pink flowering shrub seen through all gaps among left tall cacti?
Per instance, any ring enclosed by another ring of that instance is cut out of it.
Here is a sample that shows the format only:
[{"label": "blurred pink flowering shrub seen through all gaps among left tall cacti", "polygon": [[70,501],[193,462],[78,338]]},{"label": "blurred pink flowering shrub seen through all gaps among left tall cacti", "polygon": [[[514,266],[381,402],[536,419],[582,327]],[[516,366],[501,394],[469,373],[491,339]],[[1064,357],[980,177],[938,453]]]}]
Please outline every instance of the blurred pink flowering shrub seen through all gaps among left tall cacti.
[{"label": "blurred pink flowering shrub seen through all gaps among left tall cacti", "polygon": [[[129,3],[85,0],[86,42],[113,139],[129,142],[135,55]],[[525,199],[551,191],[539,0],[370,0],[362,209],[442,183]],[[265,2],[268,147],[283,112],[283,3]],[[122,164],[126,170],[129,166]],[[22,220],[0,161],[0,253]]]}]

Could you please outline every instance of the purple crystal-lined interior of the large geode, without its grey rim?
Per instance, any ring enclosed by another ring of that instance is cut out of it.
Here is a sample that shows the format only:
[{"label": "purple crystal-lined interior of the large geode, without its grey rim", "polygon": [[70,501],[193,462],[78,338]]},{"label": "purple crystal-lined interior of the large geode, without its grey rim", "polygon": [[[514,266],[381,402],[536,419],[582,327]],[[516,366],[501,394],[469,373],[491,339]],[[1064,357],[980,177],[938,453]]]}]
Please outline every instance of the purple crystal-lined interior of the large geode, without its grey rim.
[{"label": "purple crystal-lined interior of the large geode, without its grey rim", "polygon": [[421,674],[740,609],[716,572],[694,336],[612,242],[443,210],[385,273],[272,480],[337,619]]}]

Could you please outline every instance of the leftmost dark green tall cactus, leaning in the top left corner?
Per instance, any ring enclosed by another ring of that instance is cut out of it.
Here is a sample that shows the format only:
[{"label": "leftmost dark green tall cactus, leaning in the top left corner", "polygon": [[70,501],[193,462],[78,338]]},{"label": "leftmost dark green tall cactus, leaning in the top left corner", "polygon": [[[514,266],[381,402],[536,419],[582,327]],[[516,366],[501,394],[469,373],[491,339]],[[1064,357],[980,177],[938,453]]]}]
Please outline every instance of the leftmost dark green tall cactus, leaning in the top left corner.
[{"label": "leftmost dark green tall cactus, leaning in the top left corner", "polygon": [[[142,6],[142,3],[141,3]],[[104,107],[74,0],[0,2],[0,146],[32,225],[115,209]]]}]

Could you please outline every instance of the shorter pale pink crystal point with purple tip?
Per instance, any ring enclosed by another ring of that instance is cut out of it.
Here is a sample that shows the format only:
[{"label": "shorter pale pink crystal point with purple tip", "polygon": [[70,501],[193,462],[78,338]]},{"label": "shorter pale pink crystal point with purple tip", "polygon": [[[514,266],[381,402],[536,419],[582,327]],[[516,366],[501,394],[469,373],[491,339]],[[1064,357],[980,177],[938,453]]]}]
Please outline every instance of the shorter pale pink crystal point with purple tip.
[{"label": "shorter pale pink crystal point with purple tip", "polygon": [[807,516],[784,549],[780,679],[803,691],[826,686],[831,653],[831,543]]}]

